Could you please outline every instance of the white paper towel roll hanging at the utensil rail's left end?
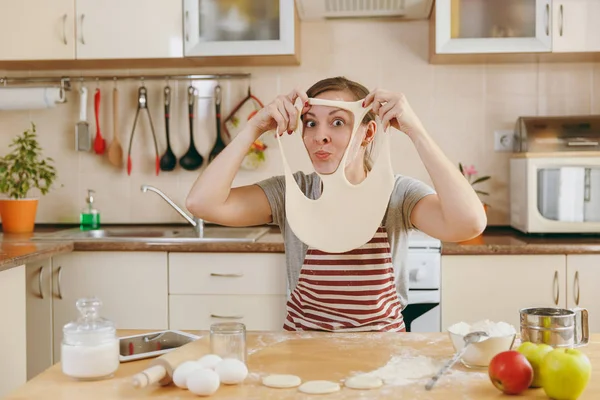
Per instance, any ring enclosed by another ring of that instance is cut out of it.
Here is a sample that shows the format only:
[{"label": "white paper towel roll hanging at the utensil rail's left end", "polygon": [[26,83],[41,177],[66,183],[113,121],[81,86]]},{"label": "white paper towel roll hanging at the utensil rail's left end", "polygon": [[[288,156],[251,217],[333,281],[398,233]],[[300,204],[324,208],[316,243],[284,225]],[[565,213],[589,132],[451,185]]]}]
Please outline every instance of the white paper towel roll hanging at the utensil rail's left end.
[{"label": "white paper towel roll hanging at the utensil rail's left end", "polygon": [[51,87],[0,87],[0,110],[51,108],[64,101],[64,90]]}]

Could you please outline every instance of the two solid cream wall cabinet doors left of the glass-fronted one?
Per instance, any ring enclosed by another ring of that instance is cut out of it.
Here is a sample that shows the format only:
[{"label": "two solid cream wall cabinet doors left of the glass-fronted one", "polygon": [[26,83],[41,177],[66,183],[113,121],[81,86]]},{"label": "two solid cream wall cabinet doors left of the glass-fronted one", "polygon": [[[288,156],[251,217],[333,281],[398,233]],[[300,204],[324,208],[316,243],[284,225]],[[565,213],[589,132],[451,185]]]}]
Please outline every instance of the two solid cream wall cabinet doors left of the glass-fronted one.
[{"label": "two solid cream wall cabinet doors left of the glass-fronted one", "polygon": [[183,57],[181,1],[0,0],[0,9],[10,38],[0,60]]}]

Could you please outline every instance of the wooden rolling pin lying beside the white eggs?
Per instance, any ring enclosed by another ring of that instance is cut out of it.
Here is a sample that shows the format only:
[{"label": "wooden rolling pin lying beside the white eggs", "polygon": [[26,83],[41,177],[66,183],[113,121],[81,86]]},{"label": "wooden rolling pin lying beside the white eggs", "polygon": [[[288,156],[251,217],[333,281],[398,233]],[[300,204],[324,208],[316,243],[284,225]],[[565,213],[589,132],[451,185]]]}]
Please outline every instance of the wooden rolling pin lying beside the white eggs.
[{"label": "wooden rolling pin lying beside the white eggs", "polygon": [[145,388],[158,383],[166,386],[173,382],[173,372],[185,361],[198,360],[210,352],[208,343],[198,339],[163,354],[150,361],[148,368],[135,374],[132,384],[136,388]]}]

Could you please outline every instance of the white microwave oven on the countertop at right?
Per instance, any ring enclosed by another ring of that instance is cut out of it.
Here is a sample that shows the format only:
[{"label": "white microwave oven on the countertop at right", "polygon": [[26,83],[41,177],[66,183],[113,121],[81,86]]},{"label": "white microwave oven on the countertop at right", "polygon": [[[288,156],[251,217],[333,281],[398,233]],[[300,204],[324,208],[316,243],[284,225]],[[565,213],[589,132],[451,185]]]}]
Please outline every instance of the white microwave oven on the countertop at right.
[{"label": "white microwave oven on the countertop at right", "polygon": [[510,225],[524,233],[600,234],[600,156],[510,159]]}]

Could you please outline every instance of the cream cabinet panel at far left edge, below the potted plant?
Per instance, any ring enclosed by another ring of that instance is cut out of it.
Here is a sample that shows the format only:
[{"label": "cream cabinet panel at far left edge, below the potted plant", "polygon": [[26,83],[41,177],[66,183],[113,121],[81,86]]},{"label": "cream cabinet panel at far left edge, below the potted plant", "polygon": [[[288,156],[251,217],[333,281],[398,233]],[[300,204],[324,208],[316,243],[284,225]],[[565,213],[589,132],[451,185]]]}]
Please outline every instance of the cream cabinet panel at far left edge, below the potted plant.
[{"label": "cream cabinet panel at far left edge, below the potted plant", "polygon": [[25,266],[0,272],[0,398],[27,381]]}]

